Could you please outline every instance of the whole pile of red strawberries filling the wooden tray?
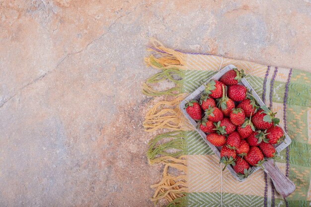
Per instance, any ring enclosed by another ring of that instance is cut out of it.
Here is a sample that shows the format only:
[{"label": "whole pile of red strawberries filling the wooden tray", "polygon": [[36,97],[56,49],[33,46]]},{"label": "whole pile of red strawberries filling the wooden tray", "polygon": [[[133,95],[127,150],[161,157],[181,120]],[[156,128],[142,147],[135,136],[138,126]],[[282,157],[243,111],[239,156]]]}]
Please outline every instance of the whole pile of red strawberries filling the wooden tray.
[{"label": "whole pile of red strawberries filling the wooden tray", "polygon": [[262,167],[265,157],[275,157],[274,144],[284,140],[284,133],[276,113],[259,107],[247,88],[238,84],[243,76],[243,70],[232,69],[219,81],[211,80],[200,102],[192,100],[185,108],[206,139],[221,147],[225,168],[231,164],[239,177],[246,178],[250,166]]}]

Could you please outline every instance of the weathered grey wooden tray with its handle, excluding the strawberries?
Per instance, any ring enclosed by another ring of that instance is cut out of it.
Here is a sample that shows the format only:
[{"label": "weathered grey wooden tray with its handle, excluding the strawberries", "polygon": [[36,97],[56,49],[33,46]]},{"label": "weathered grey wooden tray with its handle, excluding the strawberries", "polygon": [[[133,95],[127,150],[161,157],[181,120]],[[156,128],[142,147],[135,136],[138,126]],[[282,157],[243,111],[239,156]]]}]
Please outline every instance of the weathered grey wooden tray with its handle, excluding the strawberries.
[{"label": "weathered grey wooden tray with its handle, excluding the strawberries", "polygon": [[[191,93],[187,98],[185,98],[181,103],[180,103],[180,109],[183,112],[183,114],[185,115],[185,117],[190,121],[190,123],[195,127],[196,131],[201,135],[201,137],[204,139],[204,141],[210,146],[210,148],[213,150],[213,152],[220,157],[220,147],[216,147],[213,144],[211,144],[207,139],[206,139],[206,134],[201,131],[200,129],[196,128],[197,123],[195,120],[193,120],[186,112],[186,110],[184,109],[185,104],[188,101],[191,100],[199,100],[201,93],[205,90],[205,85],[206,83],[208,83],[210,80],[219,80],[221,76],[223,76],[227,71],[236,68],[233,65],[228,65],[227,67],[225,67],[224,69],[221,69],[217,74],[215,74],[213,77],[211,77],[210,79],[208,79],[204,84],[202,84],[199,88],[197,88],[193,93]],[[242,78],[241,82],[239,84],[244,85],[245,87],[248,88],[248,90],[252,93],[252,95],[255,97],[255,99],[257,100],[258,104],[260,106],[265,105],[263,103],[263,101],[261,100],[261,98],[258,96],[258,94],[252,89],[252,87],[250,86],[250,84],[247,82],[247,80],[245,78]],[[281,126],[280,126],[281,127]],[[282,127],[281,127],[282,128]],[[292,142],[291,138],[287,135],[287,133],[284,131],[284,129],[282,128],[284,135],[285,135],[285,142],[280,143],[279,145],[276,146],[276,151],[280,152],[283,149],[285,149],[288,145],[290,145],[290,143]],[[272,164],[271,164],[272,162]],[[292,181],[290,181],[287,177],[285,177],[280,170],[278,169],[277,166],[273,165],[273,161],[268,160],[267,162],[265,162],[263,164],[263,166],[265,167],[265,171],[267,172],[267,174],[271,177],[271,179],[273,180],[273,183],[275,184],[275,188],[276,190],[283,196],[288,196],[289,194],[291,194],[292,192],[294,192],[295,190],[295,185],[293,184]],[[243,181],[247,178],[244,179],[240,179],[235,171],[233,170],[232,166],[229,165],[227,166],[227,169],[230,171],[230,173],[233,175],[233,177],[238,180],[238,181]],[[260,169],[260,167],[251,167],[251,169],[253,170],[253,172],[257,171],[258,169]],[[285,190],[284,188],[286,188],[287,190]]]}]

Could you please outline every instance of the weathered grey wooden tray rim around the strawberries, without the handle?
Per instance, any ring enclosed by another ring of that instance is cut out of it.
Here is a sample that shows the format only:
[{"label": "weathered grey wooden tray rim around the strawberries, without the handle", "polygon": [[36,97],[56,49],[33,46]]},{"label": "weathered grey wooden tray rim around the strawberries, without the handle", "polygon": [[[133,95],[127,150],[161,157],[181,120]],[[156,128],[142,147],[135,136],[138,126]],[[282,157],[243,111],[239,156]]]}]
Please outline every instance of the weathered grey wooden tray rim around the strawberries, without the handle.
[{"label": "weathered grey wooden tray rim around the strawberries, without the handle", "polygon": [[[212,77],[210,77],[208,80],[206,80],[201,86],[199,86],[196,90],[194,90],[192,93],[190,93],[185,99],[183,99],[180,104],[179,104],[179,107],[180,107],[180,110],[182,111],[183,115],[190,121],[191,125],[195,128],[195,131],[197,131],[201,138],[203,138],[203,140],[211,147],[211,149],[213,150],[213,152],[220,158],[220,147],[216,147],[214,146],[212,143],[210,143],[207,139],[206,139],[206,134],[196,128],[197,126],[197,123],[195,120],[193,120],[189,115],[188,113],[186,112],[184,106],[185,106],[185,103],[187,101],[190,101],[190,100],[193,100],[195,98],[197,98],[205,89],[205,85],[206,83],[208,83],[209,81],[211,80],[219,80],[221,76],[223,76],[227,71],[233,69],[233,68],[236,68],[234,65],[228,65],[222,69],[220,69],[215,75],[213,75]],[[248,83],[248,81],[243,77],[241,79],[241,82],[239,84],[243,84],[245,87],[247,87],[247,89],[252,93],[252,95],[255,97],[256,101],[258,102],[258,104],[260,106],[263,106],[265,105],[264,102],[261,100],[261,98],[258,96],[258,94],[256,93],[256,91],[250,86],[250,84]],[[285,135],[285,142],[282,142],[280,143],[279,145],[277,145],[275,147],[276,151],[279,153],[280,151],[282,151],[283,149],[285,149],[287,146],[289,146],[292,142],[292,139],[288,136],[288,134],[285,132],[284,128],[280,125],[278,125],[284,132],[284,135]],[[275,166],[277,168],[277,166]],[[253,170],[252,173],[256,172],[258,169],[260,169],[261,167],[251,167],[251,169]],[[243,179],[240,179],[236,172],[233,170],[233,167],[231,165],[228,165],[227,166],[227,169],[230,171],[230,173],[232,174],[232,176],[242,182],[244,181],[245,179],[247,178],[243,178]],[[252,174],[251,173],[251,174]]]}]

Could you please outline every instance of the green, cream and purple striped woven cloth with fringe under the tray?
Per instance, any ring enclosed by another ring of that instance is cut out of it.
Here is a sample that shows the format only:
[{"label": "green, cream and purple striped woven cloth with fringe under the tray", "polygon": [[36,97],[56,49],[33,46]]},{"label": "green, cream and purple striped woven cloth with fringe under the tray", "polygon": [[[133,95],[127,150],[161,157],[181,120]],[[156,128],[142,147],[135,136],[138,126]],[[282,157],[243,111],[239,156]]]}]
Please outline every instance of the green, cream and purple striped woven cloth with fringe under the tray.
[{"label": "green, cream and purple striped woven cloth with fringe under the tray", "polygon": [[[169,207],[309,207],[311,205],[311,73],[233,60],[219,56],[183,53],[155,39],[147,46],[148,66],[160,71],[143,84],[143,93],[159,96],[143,123],[147,132],[163,133],[149,142],[150,164],[163,164],[162,179],[152,188],[156,203]],[[227,65],[243,69],[246,79],[266,105],[277,112],[280,125],[292,143],[276,158],[280,170],[296,185],[286,199],[271,179],[258,170],[244,182],[236,181],[218,157],[185,120],[179,103],[218,70]],[[162,81],[174,86],[158,90]]]}]

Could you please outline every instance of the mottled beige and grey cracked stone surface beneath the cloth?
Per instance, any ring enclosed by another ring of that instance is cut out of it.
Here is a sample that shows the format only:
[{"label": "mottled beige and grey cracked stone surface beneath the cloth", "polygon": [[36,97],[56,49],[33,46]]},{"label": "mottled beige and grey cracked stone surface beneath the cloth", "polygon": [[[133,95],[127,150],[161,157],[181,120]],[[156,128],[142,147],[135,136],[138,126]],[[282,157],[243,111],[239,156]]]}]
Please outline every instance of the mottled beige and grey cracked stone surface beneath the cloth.
[{"label": "mottled beige and grey cracked stone surface beneath the cloth", "polygon": [[148,36],[311,71],[310,0],[0,0],[1,207],[153,206]]}]

